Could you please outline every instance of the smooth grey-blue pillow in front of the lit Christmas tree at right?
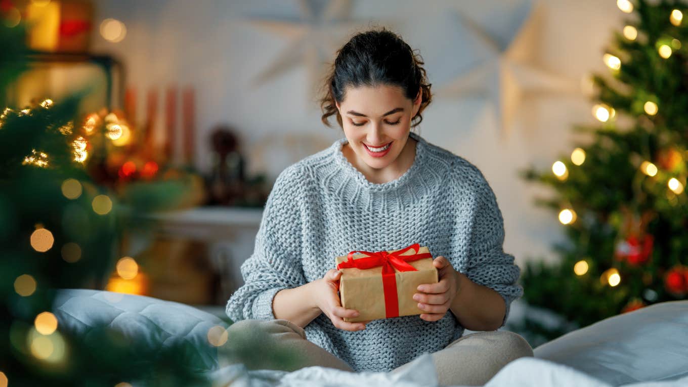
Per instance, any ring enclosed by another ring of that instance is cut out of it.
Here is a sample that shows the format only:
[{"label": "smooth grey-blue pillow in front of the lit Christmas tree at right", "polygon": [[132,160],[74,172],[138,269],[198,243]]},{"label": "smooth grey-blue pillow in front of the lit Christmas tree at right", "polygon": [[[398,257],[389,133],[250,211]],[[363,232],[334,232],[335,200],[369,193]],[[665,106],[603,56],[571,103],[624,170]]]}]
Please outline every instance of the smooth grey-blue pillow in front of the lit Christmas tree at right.
[{"label": "smooth grey-blue pillow in front of the lit Christmas tree at right", "polygon": [[688,301],[608,317],[533,352],[613,386],[679,379],[688,376]]}]

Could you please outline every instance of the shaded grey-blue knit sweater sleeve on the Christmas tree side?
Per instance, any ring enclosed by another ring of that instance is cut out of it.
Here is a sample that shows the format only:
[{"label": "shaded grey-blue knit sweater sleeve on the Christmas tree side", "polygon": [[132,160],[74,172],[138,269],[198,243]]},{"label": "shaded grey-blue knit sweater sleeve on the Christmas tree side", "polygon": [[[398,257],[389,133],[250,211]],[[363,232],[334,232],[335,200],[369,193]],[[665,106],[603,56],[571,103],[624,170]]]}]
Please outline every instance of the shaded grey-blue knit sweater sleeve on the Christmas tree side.
[{"label": "shaded grey-blue knit sweater sleeve on the Christmas tree side", "polygon": [[465,274],[471,281],[502,295],[506,313],[501,328],[506,324],[511,302],[523,295],[523,287],[516,283],[521,269],[514,264],[513,255],[504,253],[502,211],[487,180],[480,172],[478,176],[481,183],[475,191]]}]

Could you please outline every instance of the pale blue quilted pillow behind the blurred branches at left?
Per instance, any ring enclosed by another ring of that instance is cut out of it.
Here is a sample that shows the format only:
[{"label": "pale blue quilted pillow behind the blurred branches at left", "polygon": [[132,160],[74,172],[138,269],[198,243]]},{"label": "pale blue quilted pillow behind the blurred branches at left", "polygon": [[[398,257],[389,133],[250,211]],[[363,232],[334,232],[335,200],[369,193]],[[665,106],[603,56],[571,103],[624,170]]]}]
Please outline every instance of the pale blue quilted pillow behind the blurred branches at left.
[{"label": "pale blue quilted pillow behind the blurred branches at left", "polygon": [[131,353],[144,361],[164,348],[184,348],[180,364],[199,372],[218,368],[217,348],[208,343],[208,330],[227,327],[219,317],[193,306],[89,289],[59,289],[53,313],[61,329],[85,341],[100,339],[99,328],[116,328]]}]

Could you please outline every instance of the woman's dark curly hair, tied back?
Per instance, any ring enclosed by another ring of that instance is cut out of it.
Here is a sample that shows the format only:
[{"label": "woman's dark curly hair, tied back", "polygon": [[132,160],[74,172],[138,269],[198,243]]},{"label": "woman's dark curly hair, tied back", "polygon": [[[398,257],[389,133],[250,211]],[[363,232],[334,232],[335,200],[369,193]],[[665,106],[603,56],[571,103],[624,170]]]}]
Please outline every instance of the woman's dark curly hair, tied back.
[{"label": "woman's dark curly hair, tied back", "polygon": [[[339,126],[343,127],[335,101],[344,101],[347,87],[389,85],[400,87],[411,101],[416,99],[420,90],[420,108],[411,118],[411,127],[416,127],[423,120],[422,111],[432,99],[432,84],[428,83],[425,69],[421,67],[423,64],[420,54],[415,54],[401,36],[384,27],[355,34],[337,51],[330,75],[323,85],[320,99],[323,123],[332,127],[328,118],[336,114]],[[414,120],[417,121],[414,123]]]}]

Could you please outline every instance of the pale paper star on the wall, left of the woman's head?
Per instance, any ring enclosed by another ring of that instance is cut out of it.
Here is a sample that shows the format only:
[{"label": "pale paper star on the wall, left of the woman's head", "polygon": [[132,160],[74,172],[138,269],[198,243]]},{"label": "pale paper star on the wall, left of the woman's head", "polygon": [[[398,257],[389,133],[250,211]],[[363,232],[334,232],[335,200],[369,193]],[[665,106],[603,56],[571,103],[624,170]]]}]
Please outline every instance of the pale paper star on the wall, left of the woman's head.
[{"label": "pale paper star on the wall, left of the woman's head", "polygon": [[299,0],[298,20],[249,19],[259,28],[290,39],[290,44],[277,55],[275,62],[254,79],[260,85],[297,65],[306,65],[310,91],[315,93],[323,80],[327,63],[332,63],[336,50],[346,43],[357,24],[348,19],[350,0]]}]

